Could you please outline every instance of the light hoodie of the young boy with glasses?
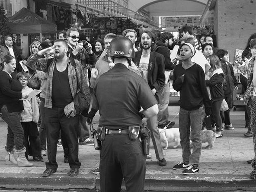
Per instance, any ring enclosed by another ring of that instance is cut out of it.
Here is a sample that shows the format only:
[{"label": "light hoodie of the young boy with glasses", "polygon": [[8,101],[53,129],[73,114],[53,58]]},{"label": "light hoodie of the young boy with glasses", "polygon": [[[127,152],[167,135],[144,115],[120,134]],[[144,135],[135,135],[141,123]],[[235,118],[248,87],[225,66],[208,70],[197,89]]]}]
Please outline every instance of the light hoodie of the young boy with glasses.
[{"label": "light hoodie of the young boy with glasses", "polygon": [[[29,94],[33,89],[28,86],[24,87],[21,92]],[[30,122],[38,123],[39,119],[39,107],[36,100],[36,97],[32,97],[30,100],[23,101],[24,110],[21,111],[21,122]]]}]

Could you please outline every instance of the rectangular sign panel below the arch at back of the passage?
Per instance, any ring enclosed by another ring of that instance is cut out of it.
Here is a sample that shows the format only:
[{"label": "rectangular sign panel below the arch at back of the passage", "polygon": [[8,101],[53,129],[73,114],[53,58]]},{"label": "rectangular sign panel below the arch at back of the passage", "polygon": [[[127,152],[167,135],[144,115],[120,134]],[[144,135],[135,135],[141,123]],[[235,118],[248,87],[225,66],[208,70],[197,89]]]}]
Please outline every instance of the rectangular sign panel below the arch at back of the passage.
[{"label": "rectangular sign panel below the arch at back of the passage", "polygon": [[199,17],[166,17],[166,28],[178,28],[184,25],[193,25],[199,23]]}]

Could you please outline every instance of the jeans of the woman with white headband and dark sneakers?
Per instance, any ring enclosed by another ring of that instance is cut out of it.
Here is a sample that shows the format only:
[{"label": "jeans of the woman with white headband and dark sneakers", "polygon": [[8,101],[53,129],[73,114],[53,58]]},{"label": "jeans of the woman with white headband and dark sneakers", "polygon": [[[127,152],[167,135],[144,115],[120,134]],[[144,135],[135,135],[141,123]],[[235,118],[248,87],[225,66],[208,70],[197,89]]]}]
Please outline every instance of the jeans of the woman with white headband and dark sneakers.
[{"label": "jeans of the woman with white headband and dark sneakers", "polygon": [[[179,124],[180,124],[180,145],[182,147],[182,157],[186,164],[199,166],[201,156],[201,128],[204,121],[205,109],[204,105],[194,111],[187,111],[180,108]],[[191,126],[191,133],[190,133]],[[193,151],[191,154],[190,139],[193,143]]]}]

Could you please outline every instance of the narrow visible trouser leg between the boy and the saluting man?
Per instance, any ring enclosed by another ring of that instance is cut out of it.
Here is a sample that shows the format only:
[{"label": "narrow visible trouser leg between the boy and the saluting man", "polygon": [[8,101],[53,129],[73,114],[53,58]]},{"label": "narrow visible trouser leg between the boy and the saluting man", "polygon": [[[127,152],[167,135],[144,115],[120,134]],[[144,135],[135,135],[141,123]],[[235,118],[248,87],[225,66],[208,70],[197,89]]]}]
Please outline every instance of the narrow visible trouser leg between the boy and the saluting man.
[{"label": "narrow visible trouser leg between the boy and the saluting man", "polygon": [[41,123],[39,128],[39,135],[41,141],[41,150],[46,150],[46,131],[45,131],[45,99],[40,97],[40,116]]}]

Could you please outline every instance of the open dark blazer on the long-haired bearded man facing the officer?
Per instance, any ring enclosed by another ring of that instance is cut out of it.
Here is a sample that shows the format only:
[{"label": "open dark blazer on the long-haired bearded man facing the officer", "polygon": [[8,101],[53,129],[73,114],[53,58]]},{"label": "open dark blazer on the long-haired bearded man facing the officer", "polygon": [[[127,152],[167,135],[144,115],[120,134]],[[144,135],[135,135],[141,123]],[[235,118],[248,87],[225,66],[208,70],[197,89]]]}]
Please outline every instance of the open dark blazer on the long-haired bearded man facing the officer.
[{"label": "open dark blazer on the long-haired bearded man facing the officer", "polygon": [[[135,58],[133,62],[135,65],[140,66],[140,58],[142,51],[135,52]],[[159,102],[160,91],[165,85],[165,76],[164,76],[164,56],[152,51],[149,57],[149,67],[147,73],[147,80],[151,90],[156,89],[156,100]]]}]

